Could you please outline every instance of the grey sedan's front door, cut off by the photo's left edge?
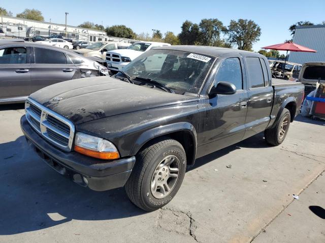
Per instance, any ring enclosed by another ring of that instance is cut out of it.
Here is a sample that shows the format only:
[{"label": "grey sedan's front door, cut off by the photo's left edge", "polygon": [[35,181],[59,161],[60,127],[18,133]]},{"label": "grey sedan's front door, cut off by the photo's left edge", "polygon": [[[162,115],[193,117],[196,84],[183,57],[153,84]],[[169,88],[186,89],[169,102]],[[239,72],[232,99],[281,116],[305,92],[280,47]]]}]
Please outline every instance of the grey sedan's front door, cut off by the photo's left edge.
[{"label": "grey sedan's front door, cut off by the photo's left edge", "polygon": [[23,100],[30,95],[30,48],[0,48],[0,100]]}]

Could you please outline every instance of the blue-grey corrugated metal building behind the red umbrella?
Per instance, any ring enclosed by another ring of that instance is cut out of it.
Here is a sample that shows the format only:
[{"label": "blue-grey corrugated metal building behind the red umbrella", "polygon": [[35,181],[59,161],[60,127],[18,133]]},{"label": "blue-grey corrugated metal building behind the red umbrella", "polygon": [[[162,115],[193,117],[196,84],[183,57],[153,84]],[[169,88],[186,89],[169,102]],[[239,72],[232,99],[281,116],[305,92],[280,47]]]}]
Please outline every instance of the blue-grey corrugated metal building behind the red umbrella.
[{"label": "blue-grey corrugated metal building behind the red umbrella", "polygon": [[293,41],[317,52],[290,52],[289,62],[325,62],[325,25],[297,26]]}]

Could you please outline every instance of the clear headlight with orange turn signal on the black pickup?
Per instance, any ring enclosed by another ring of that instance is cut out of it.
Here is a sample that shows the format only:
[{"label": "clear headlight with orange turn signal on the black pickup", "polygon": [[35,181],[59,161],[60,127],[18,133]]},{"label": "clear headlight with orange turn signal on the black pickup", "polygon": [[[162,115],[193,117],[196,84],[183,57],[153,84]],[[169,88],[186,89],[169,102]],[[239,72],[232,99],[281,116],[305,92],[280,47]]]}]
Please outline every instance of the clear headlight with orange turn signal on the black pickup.
[{"label": "clear headlight with orange turn signal on the black pickup", "polygon": [[76,152],[94,158],[116,159],[120,157],[117,148],[110,141],[80,132],[76,133],[74,149]]}]

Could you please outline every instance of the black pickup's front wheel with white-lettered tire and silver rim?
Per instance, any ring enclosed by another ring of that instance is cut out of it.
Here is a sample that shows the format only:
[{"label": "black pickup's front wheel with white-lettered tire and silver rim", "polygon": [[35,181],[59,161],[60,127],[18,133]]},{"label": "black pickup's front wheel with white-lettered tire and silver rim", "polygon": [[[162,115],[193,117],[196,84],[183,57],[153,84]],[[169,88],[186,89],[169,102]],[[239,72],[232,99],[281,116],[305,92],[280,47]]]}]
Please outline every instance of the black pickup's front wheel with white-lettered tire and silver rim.
[{"label": "black pickup's front wheel with white-lettered tire and silver rim", "polygon": [[125,184],[126,194],[139,208],[157,210],[176,195],[185,171],[183,146],[169,137],[161,137],[137,154],[136,164]]}]

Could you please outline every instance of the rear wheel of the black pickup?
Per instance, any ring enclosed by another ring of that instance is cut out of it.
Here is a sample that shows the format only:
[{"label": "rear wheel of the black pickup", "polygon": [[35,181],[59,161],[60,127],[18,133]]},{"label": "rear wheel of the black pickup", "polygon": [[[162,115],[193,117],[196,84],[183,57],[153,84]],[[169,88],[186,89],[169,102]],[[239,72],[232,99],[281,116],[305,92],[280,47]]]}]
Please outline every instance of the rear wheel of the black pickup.
[{"label": "rear wheel of the black pickup", "polygon": [[264,132],[267,143],[277,146],[284,141],[289,130],[290,119],[291,117],[289,110],[284,108],[276,126],[274,128],[267,129]]}]

